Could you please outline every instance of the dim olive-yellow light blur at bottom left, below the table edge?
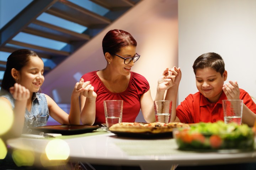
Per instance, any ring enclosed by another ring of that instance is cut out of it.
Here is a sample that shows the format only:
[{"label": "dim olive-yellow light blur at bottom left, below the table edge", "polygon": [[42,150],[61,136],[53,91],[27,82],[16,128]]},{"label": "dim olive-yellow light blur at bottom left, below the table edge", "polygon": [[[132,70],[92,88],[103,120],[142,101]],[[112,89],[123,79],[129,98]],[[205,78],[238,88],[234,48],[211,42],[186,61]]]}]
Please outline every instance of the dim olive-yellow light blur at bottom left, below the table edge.
[{"label": "dim olive-yellow light blur at bottom left, below the table edge", "polygon": [[32,151],[15,149],[12,152],[12,159],[17,166],[32,166],[35,158]]}]

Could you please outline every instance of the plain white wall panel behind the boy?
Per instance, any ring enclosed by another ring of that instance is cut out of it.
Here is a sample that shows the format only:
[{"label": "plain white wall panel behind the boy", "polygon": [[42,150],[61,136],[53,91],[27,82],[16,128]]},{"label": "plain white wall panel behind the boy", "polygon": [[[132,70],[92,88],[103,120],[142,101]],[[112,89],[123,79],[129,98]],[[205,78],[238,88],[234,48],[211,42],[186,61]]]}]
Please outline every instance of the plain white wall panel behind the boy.
[{"label": "plain white wall panel behind the boy", "polygon": [[219,53],[228,80],[256,97],[256,1],[179,0],[178,63],[180,103],[197,92],[192,65],[206,52]]}]

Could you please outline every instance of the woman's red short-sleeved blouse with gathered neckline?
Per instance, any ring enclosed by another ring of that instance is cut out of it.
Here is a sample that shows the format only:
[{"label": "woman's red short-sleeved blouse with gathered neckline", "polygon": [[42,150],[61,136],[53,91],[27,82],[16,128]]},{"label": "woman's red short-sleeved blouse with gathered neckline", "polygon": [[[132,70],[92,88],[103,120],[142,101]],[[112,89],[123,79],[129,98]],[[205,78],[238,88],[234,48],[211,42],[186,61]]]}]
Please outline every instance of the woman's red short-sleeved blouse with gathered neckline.
[{"label": "woman's red short-sleeved blouse with gathered neckline", "polygon": [[142,75],[130,72],[130,81],[127,89],[121,93],[110,92],[102,83],[97,71],[82,76],[84,81],[90,81],[97,94],[96,118],[94,124],[106,123],[103,101],[123,100],[122,122],[134,122],[140,111],[140,97],[149,90],[149,83]]}]

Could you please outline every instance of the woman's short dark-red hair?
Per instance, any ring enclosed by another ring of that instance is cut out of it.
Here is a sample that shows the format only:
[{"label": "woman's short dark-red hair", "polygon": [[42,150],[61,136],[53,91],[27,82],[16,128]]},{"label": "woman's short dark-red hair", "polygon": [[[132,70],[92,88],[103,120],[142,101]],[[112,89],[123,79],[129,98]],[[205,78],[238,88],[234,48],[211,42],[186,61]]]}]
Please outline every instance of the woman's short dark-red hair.
[{"label": "woman's short dark-red hair", "polygon": [[111,54],[118,53],[122,47],[129,45],[136,47],[136,40],[130,33],[118,29],[110,30],[102,40],[102,49],[104,55],[106,52]]}]

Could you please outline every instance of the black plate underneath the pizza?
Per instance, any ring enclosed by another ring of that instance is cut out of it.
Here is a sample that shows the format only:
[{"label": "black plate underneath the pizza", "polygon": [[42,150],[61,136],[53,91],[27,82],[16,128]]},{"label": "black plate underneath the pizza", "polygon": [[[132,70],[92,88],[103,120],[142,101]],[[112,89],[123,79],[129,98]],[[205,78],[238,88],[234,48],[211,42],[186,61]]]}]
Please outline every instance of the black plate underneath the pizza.
[{"label": "black plate underneath the pizza", "polygon": [[134,133],[134,132],[119,132],[119,131],[110,131],[113,134],[116,134],[117,136],[122,136],[122,137],[135,137],[135,138],[162,138],[162,137],[168,137],[172,138],[172,132],[162,132],[162,133],[150,133],[150,132],[145,132],[145,133]]}]

